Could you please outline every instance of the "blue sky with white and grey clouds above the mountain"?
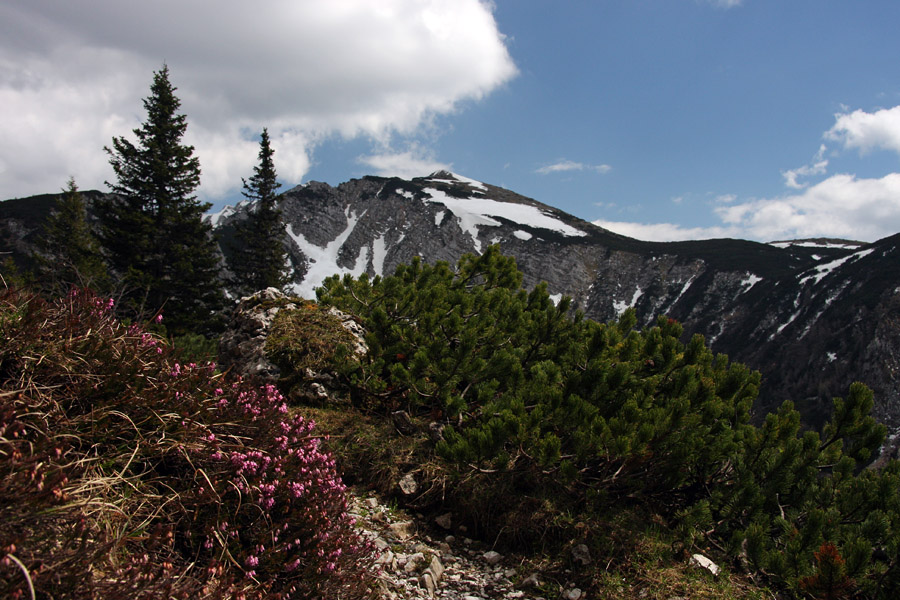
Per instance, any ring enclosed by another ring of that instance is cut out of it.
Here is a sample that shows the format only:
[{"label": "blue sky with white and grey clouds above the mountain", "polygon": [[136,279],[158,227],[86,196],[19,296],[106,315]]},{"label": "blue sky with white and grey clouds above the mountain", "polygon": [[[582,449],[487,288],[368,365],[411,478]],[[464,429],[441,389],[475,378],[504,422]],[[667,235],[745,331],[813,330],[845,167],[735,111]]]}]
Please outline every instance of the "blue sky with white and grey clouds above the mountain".
[{"label": "blue sky with white and grey clouds above the mountain", "polygon": [[438,169],[645,240],[900,232],[896,0],[2,0],[0,198],[106,189],[165,64],[214,209]]}]

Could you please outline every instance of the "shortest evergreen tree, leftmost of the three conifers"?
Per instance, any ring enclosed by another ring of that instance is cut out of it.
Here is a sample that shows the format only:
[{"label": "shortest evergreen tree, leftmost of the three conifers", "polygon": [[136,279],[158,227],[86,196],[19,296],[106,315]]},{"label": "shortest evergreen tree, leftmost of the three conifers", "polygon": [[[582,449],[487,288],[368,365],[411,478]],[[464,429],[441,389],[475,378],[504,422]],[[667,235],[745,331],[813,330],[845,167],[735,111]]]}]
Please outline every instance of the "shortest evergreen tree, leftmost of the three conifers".
[{"label": "shortest evergreen tree, leftmost of the three conifers", "polygon": [[54,291],[73,285],[102,290],[108,283],[100,244],[88,224],[84,198],[74,178],[44,223],[35,258],[41,283]]}]

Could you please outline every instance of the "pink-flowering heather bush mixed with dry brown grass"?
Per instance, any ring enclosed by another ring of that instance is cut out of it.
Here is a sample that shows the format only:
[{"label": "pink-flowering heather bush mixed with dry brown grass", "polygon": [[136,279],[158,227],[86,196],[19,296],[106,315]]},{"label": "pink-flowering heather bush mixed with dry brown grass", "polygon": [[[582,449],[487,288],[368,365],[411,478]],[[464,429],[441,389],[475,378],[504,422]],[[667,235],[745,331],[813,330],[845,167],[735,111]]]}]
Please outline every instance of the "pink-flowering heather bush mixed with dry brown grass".
[{"label": "pink-flowering heather bush mixed with dry brown grass", "polygon": [[363,597],[314,424],[112,309],[0,295],[0,597]]}]

